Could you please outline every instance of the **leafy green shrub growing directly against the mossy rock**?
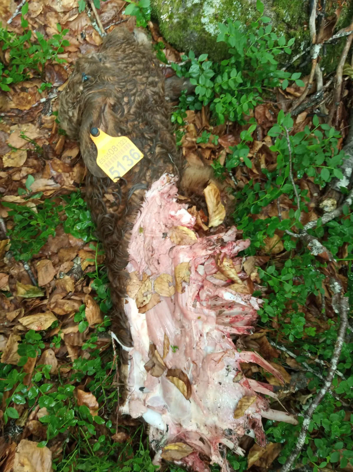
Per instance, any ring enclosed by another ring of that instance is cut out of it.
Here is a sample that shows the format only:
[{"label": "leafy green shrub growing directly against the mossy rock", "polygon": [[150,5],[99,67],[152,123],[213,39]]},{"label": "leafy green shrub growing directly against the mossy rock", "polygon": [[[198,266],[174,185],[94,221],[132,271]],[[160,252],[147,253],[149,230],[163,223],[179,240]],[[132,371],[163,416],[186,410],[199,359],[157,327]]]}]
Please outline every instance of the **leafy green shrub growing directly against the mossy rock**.
[{"label": "leafy green shrub growing directly against the mossy rock", "polygon": [[[294,39],[286,41],[278,36],[268,23],[270,18],[263,16],[263,3],[256,2],[259,18],[242,30],[240,21],[227,20],[227,25],[218,24],[220,33],[217,42],[225,42],[229,48],[230,59],[217,63],[208,60],[207,54],[195,57],[193,51],[183,56],[184,66],[172,64],[178,76],[190,78],[196,85],[195,94],[181,97],[179,114],[172,121],[182,124],[185,110],[201,110],[209,105],[217,124],[225,120],[245,123],[243,114],[262,101],[264,88],[282,86],[285,89],[289,80],[303,86],[301,74],[291,74],[278,68],[276,57],[290,54]],[[281,84],[282,80],[282,84]]]}]

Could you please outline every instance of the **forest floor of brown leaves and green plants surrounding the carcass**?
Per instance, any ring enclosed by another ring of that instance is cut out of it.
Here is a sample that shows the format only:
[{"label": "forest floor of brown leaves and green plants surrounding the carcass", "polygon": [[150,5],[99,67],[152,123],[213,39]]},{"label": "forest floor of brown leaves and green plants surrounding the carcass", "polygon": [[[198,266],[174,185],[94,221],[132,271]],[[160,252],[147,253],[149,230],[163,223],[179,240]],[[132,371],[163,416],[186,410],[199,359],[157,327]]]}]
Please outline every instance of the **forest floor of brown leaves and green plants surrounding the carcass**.
[{"label": "forest floor of brown leaves and green plants surrounding the carcass", "polygon": [[[207,80],[223,74],[219,83],[229,82],[239,69],[205,67],[206,58],[185,58],[163,42],[149,21],[149,1],[131,9],[135,16],[123,14],[123,0],[107,0],[98,10],[83,0],[7,3],[0,6],[1,470],[155,470],[144,426],[117,416],[118,356],[109,334],[104,252],[84,201],[78,143],[66,138],[57,119],[58,96],[75,59],[99,48],[103,28],[133,26],[137,15],[166,76],[189,73],[199,87],[194,98],[174,104],[177,141],[186,160],[212,164],[233,188],[235,224],[252,241],[239,268],[251,280],[243,293],[264,302],[254,334],[239,342],[276,366],[286,384],[252,363],[243,364],[243,374],[276,386],[272,407],[299,421],[266,421],[267,446],[242,438],[246,457],[229,453],[230,465],[352,472],[352,192],[337,187],[345,177],[343,146],[349,157],[353,140],[350,45],[323,86],[312,57],[312,73],[309,67],[299,79],[294,71],[277,86],[265,77],[263,101],[249,93],[231,109],[226,91],[220,100],[216,81]],[[337,34],[332,19],[328,23],[325,40]],[[349,31],[342,36],[351,38]],[[41,47],[28,53],[29,41]],[[211,98],[204,106],[207,87]],[[207,223],[206,215],[201,219]]]}]

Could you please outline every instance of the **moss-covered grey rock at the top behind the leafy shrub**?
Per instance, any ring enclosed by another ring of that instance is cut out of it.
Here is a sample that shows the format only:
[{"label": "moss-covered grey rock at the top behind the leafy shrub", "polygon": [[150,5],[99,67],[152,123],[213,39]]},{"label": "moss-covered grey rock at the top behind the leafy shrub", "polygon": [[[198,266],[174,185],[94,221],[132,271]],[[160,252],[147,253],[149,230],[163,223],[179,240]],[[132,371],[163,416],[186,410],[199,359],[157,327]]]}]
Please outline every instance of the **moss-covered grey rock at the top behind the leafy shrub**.
[{"label": "moss-covered grey rock at the top behind the leafy shrub", "polygon": [[[309,44],[309,1],[263,0],[263,14],[271,17],[275,30],[284,33],[287,39],[296,39],[294,54]],[[218,22],[231,18],[239,20],[246,28],[259,16],[256,0],[151,0],[151,5],[161,33],[168,42],[179,51],[192,49],[196,54],[206,52],[213,60],[222,59],[227,53],[225,44],[216,42]],[[330,2],[331,11],[327,12],[327,16],[334,14],[338,6],[337,1]],[[349,23],[352,16],[349,10],[353,10],[353,2],[350,7],[342,8],[337,27]],[[325,66],[335,67],[339,46],[328,47],[330,57],[323,61]]]}]

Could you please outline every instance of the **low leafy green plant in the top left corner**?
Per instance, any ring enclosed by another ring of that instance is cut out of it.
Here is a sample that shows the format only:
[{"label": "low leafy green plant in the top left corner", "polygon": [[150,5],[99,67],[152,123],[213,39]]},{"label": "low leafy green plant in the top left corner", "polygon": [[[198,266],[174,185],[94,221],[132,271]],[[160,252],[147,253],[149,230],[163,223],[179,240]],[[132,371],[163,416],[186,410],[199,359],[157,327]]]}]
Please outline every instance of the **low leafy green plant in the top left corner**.
[{"label": "low leafy green plant in the top left corner", "polygon": [[[28,29],[28,21],[24,18],[27,12],[28,3],[26,2],[21,9],[23,35],[9,32],[0,23],[1,50],[9,51],[8,62],[5,59],[0,61],[0,88],[5,92],[10,90],[8,84],[17,84],[26,80],[29,77],[29,71],[35,76],[42,77],[43,66],[47,61],[65,62],[65,59],[59,58],[58,54],[64,51],[65,46],[69,46],[69,42],[64,39],[69,30],[62,30],[61,26],[57,24],[57,34],[46,40],[44,35],[37,31],[34,33],[35,39],[33,41],[33,32]],[[5,58],[5,54],[3,53],[1,57]],[[41,84],[41,91],[44,90],[44,87],[49,87],[49,84]]]}]

